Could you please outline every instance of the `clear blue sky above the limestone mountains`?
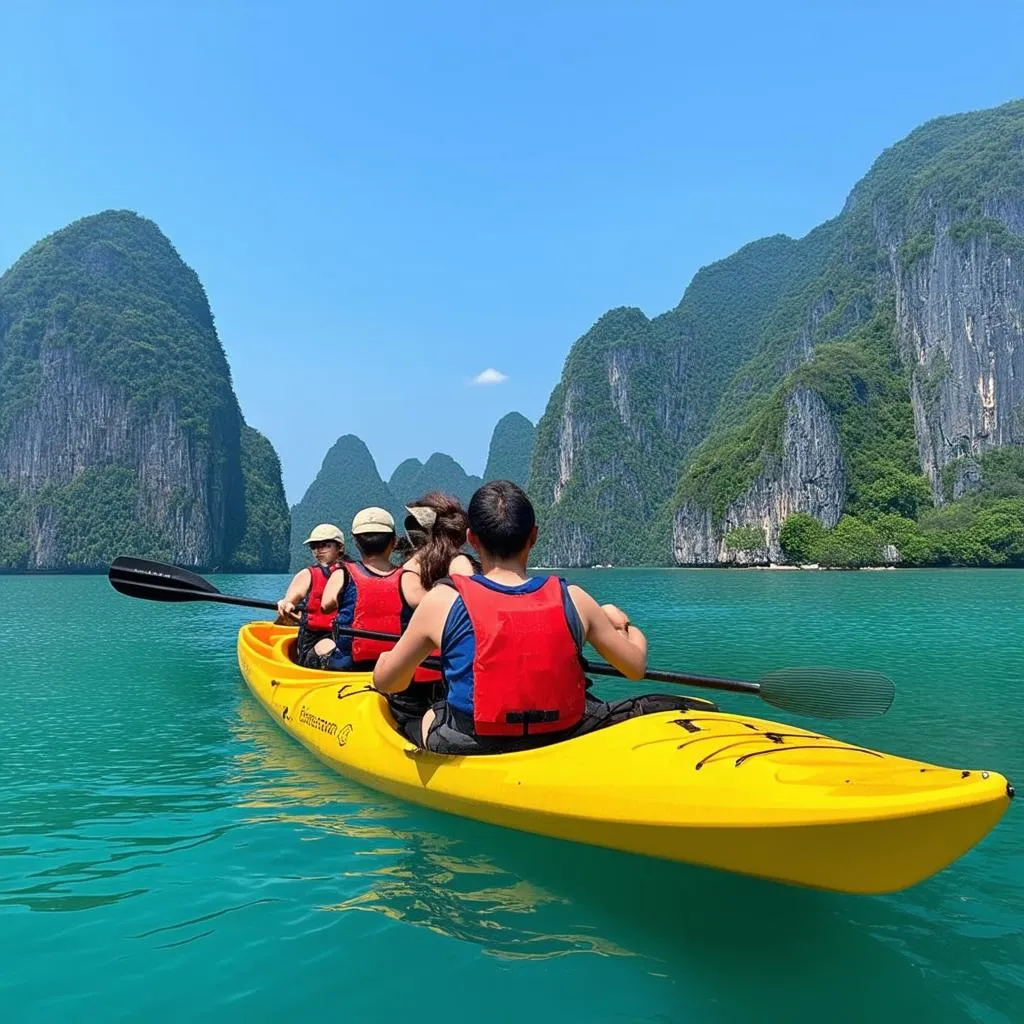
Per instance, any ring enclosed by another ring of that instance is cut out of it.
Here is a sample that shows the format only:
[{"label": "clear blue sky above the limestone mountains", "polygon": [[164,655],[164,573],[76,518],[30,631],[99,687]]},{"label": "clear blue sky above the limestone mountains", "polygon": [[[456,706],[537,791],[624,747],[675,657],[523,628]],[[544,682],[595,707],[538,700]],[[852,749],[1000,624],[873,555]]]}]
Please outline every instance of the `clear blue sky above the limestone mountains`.
[{"label": "clear blue sky above the limestone mountains", "polygon": [[480,472],[606,309],[670,308],[916,125],[1024,95],[1024,5],[971,10],[4,0],[0,264],[137,210],[206,286],[291,502],[349,432],[385,477]]}]

